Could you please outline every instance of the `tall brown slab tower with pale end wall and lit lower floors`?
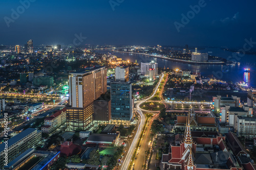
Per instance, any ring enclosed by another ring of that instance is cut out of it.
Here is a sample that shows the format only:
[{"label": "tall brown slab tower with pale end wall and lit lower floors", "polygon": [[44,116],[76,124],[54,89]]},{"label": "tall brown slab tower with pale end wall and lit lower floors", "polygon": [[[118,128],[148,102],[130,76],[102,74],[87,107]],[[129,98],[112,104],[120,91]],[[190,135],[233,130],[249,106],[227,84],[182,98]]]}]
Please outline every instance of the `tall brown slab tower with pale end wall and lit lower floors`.
[{"label": "tall brown slab tower with pale end wall and lit lower floors", "polygon": [[69,75],[67,130],[87,130],[93,124],[93,101],[106,92],[106,68],[87,67]]}]

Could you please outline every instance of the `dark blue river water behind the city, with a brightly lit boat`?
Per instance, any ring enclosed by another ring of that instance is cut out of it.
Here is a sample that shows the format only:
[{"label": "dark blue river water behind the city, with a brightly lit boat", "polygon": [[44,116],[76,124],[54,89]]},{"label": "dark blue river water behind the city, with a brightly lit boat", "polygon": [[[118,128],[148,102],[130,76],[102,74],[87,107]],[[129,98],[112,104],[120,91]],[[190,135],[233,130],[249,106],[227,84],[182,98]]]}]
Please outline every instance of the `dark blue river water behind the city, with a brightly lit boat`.
[{"label": "dark blue river water behind the city, with a brightly lit boat", "polygon": [[[199,71],[203,76],[212,75],[218,79],[224,81],[235,82],[246,82],[250,87],[256,87],[256,75],[255,75],[255,65],[256,56],[255,55],[244,55],[239,61],[240,64],[236,65],[194,65],[181,62],[168,61],[164,59],[148,57],[144,55],[137,54],[127,54],[127,53],[116,53],[112,51],[95,51],[97,53],[111,53],[118,58],[123,60],[130,60],[135,62],[137,60],[140,62],[151,62],[156,61],[159,67],[165,68],[179,68],[179,69],[190,69],[193,72]],[[214,55],[227,59],[229,56],[232,56],[232,52],[221,50],[220,48],[207,48],[206,50],[200,50],[200,52],[212,52],[209,55]],[[229,57],[230,58],[230,57]],[[244,72],[244,68],[250,68],[249,72]]]}]

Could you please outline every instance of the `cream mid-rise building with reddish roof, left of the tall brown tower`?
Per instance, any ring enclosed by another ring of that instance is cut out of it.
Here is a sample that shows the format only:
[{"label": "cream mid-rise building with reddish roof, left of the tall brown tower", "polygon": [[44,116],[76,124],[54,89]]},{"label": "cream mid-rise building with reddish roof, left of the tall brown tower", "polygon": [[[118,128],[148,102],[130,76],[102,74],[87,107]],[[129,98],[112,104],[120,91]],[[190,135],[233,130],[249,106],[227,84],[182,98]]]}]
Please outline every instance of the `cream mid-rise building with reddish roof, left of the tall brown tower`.
[{"label": "cream mid-rise building with reddish roof, left of the tall brown tower", "polygon": [[65,124],[66,118],[66,107],[56,111],[51,116],[45,118],[45,125],[41,127],[41,131],[44,133],[52,133],[61,125]]}]

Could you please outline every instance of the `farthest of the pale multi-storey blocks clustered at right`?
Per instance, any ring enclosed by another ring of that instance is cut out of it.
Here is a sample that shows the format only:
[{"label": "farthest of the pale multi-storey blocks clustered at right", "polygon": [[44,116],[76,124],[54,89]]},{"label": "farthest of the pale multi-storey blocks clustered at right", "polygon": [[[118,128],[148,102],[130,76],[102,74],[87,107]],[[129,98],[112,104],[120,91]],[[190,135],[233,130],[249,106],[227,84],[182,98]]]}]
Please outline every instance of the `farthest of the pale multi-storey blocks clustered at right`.
[{"label": "farthest of the pale multi-storey blocks clustered at right", "polygon": [[239,107],[240,98],[235,95],[231,95],[231,98],[228,96],[222,97],[221,95],[212,97],[212,105],[214,105],[215,111],[220,111],[220,106],[229,105],[230,107]]}]

